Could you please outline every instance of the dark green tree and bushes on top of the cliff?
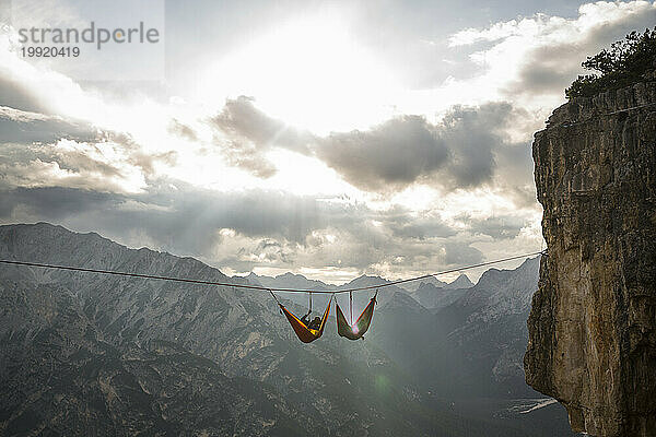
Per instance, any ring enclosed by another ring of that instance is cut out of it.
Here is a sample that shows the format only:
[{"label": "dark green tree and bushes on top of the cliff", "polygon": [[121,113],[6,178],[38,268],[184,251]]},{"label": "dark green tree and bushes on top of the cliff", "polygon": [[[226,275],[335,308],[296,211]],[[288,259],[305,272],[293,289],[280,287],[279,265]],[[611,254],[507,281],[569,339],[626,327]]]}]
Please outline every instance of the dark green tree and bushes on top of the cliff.
[{"label": "dark green tree and bushes on top of the cliff", "polygon": [[567,99],[591,97],[600,92],[618,90],[640,81],[656,67],[656,27],[644,34],[631,32],[622,40],[588,57],[582,67],[598,73],[579,75],[565,90]]}]

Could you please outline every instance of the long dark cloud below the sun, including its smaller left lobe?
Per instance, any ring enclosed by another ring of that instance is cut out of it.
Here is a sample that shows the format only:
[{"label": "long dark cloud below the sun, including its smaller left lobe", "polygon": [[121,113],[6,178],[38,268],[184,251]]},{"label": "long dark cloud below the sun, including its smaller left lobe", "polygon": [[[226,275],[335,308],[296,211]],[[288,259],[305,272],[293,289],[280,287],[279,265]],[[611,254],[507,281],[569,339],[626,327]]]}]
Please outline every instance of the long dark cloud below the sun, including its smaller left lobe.
[{"label": "long dark cloud below the sun, including its smaller left lobe", "polygon": [[454,106],[435,125],[406,115],[321,138],[286,127],[239,97],[211,122],[229,161],[256,176],[276,173],[267,152],[279,147],[319,158],[363,191],[391,193],[413,184],[452,191],[491,181],[494,150],[508,141],[503,130],[516,115],[507,103]]}]

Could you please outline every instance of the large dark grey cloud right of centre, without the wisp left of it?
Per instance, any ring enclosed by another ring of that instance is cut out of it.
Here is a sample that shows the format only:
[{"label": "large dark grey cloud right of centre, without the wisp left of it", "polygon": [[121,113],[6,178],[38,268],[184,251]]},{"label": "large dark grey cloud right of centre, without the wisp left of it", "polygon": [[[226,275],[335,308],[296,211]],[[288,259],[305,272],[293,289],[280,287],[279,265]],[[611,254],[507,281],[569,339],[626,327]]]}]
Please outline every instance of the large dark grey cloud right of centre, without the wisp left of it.
[{"label": "large dark grey cloud right of centre, without the wisp left of it", "polygon": [[492,180],[494,150],[507,139],[503,129],[513,115],[506,103],[452,107],[440,123],[403,116],[368,131],[333,133],[317,156],[355,187],[399,191],[419,182],[445,191]]}]

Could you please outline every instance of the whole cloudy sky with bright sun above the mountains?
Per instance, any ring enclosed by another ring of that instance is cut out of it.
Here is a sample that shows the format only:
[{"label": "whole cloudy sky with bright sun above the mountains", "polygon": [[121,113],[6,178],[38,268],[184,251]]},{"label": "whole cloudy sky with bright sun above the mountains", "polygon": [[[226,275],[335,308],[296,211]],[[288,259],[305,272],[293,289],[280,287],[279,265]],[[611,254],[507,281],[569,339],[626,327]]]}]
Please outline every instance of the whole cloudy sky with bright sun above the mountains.
[{"label": "whole cloudy sky with bright sun above the mountains", "polygon": [[[160,39],[22,56],[21,27],[90,21]],[[538,251],[534,133],[586,56],[654,23],[652,1],[1,0],[0,223],[337,284]]]}]

